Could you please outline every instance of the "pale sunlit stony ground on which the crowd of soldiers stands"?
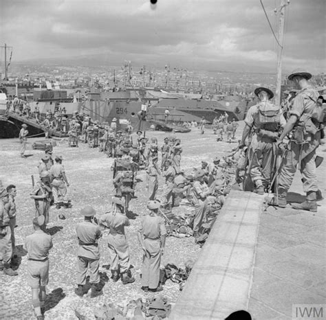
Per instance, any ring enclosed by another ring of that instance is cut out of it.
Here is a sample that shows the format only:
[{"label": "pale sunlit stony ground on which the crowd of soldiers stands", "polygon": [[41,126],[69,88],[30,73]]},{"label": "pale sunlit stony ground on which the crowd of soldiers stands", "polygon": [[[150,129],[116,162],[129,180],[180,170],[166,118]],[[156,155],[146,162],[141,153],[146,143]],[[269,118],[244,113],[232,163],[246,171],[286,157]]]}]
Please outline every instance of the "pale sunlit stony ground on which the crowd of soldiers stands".
[{"label": "pale sunlit stony ground on which the crowd of soldiers stands", "polygon": [[[238,129],[237,138],[241,133]],[[159,144],[162,144],[166,133],[148,132],[147,137],[157,137]],[[199,167],[201,161],[211,161],[214,156],[226,155],[236,146],[216,141],[212,130],[206,130],[204,135],[199,135],[197,128],[191,133],[177,133],[182,139],[183,154],[182,168],[191,172],[193,168]],[[43,151],[32,150],[33,141],[40,139],[29,139],[27,159],[19,156],[20,144],[18,139],[0,140],[0,179],[3,185],[17,185],[17,229],[16,238],[19,249],[19,275],[9,277],[0,273],[0,319],[33,319],[32,307],[30,304],[31,294],[26,279],[27,258],[21,250],[25,236],[32,233],[32,218],[34,217],[34,203],[30,199],[32,190],[31,175],[38,179],[37,165],[43,155]],[[123,286],[121,282],[114,284],[109,279],[110,272],[107,266],[110,264],[106,247],[105,236],[100,240],[100,272],[104,295],[90,299],[89,295],[80,298],[74,294],[76,287],[76,250],[78,242],[76,239],[76,222],[83,220],[79,212],[85,205],[93,206],[98,214],[109,211],[110,198],[113,195],[112,185],[112,159],[98,152],[98,149],[88,148],[80,144],[79,148],[68,148],[67,141],[56,140],[54,155],[63,155],[63,164],[70,183],[69,194],[72,198],[72,209],[57,210],[50,209],[50,232],[53,236],[54,248],[50,252],[50,283],[47,286],[47,311],[46,319],[76,319],[74,310],[77,309],[88,319],[94,319],[94,310],[102,304],[113,303],[116,306],[123,306],[130,299],[137,299],[149,294],[140,290],[140,267],[142,251],[137,240],[137,230],[140,226],[140,216],[146,213],[146,181],[144,171],[138,172],[139,183],[135,195],[130,204],[131,226],[127,228],[127,239],[131,250],[131,263],[136,281],[133,284]],[[160,181],[159,194],[162,190],[162,179]],[[189,212],[191,207],[181,206],[173,209],[176,212]],[[58,213],[63,212],[66,220],[58,220]],[[193,237],[173,238],[166,241],[166,251],[162,259],[162,265],[173,263],[184,267],[188,259],[196,260],[200,249],[194,243]],[[175,302],[180,294],[179,287],[171,281],[166,282],[162,295],[168,297],[171,304]],[[153,294],[151,294],[153,295]]]}]

